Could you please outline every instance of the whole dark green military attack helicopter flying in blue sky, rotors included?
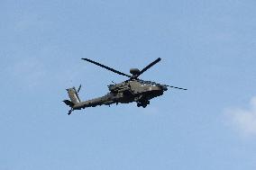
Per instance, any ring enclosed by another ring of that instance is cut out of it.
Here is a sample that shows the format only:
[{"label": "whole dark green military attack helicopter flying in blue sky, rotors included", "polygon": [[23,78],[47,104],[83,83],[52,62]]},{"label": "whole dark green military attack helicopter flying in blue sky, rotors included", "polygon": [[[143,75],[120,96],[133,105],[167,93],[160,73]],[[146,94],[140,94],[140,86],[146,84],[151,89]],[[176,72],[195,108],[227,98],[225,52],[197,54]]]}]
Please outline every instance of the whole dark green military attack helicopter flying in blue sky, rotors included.
[{"label": "whole dark green military attack helicopter flying in blue sky, rotors included", "polygon": [[122,83],[108,85],[109,93],[105,94],[102,97],[98,97],[95,99],[91,99],[85,102],[81,102],[78,96],[78,93],[81,89],[81,85],[78,87],[78,90],[75,87],[66,89],[69,94],[69,100],[64,100],[63,102],[69,105],[71,108],[68,114],[71,114],[74,110],[81,110],[87,107],[96,107],[97,105],[111,105],[113,103],[137,103],[138,107],[147,107],[150,104],[150,100],[154,97],[158,97],[163,94],[164,91],[168,90],[168,87],[176,88],[180,90],[187,90],[185,88],[180,88],[172,85],[161,85],[151,81],[144,81],[139,79],[138,77],[141,76],[145,71],[149,68],[160,62],[161,58],[157,58],[150,65],[144,67],[142,70],[138,68],[131,68],[130,73],[132,75],[124,74],[120,71],[115,70],[111,67],[106,67],[96,61],[93,61],[88,58],[81,58],[86,60],[87,62],[93,63],[96,66],[104,67],[105,69],[112,71],[121,76],[129,77],[128,80],[125,80]]}]

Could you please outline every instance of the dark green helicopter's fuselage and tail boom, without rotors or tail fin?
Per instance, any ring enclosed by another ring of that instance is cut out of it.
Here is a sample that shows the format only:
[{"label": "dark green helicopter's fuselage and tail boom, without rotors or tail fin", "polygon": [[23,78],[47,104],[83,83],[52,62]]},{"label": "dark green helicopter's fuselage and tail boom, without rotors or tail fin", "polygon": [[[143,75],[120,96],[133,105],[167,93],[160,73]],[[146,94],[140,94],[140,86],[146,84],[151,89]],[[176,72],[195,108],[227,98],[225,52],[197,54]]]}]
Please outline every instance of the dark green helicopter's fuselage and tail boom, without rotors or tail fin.
[{"label": "dark green helicopter's fuselage and tail boom, without rotors or tail fin", "polygon": [[96,107],[97,105],[133,102],[136,102],[139,107],[146,107],[152,98],[162,95],[167,90],[163,85],[153,84],[153,82],[150,84],[140,80],[124,81],[120,84],[108,85],[108,88],[110,91],[108,94],[85,102],[76,103],[73,106],[74,110]]}]

